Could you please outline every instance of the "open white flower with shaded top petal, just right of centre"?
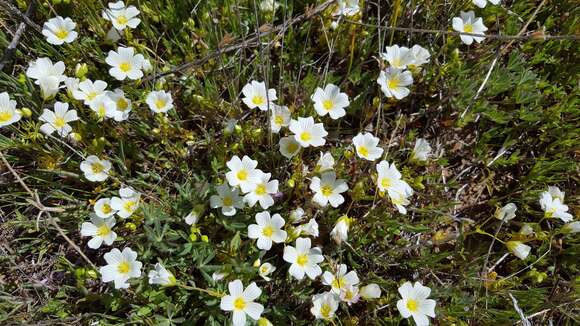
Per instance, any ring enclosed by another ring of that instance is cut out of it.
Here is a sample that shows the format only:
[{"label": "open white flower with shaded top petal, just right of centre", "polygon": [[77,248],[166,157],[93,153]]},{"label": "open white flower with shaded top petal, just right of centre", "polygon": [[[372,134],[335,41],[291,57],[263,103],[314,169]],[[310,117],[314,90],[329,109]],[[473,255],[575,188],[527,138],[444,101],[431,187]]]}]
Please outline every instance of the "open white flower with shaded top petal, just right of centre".
[{"label": "open white flower with shaded top petal, just right of centre", "polygon": [[310,190],[314,191],[312,200],[318,205],[324,207],[330,202],[332,207],[338,207],[344,203],[341,193],[348,190],[348,185],[343,179],[337,180],[334,171],[327,171],[320,178],[312,178]]}]

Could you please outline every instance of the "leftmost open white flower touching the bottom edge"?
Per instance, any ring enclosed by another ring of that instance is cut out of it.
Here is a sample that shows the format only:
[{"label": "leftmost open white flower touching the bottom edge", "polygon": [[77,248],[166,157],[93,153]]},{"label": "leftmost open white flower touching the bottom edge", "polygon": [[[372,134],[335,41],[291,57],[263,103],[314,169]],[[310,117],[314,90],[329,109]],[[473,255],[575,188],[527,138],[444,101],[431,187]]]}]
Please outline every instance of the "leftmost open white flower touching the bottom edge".
[{"label": "leftmost open white flower touching the bottom edge", "polygon": [[253,320],[258,320],[264,311],[264,306],[254,302],[262,290],[256,283],[252,282],[244,290],[242,281],[235,280],[228,284],[229,295],[223,296],[220,308],[224,311],[233,311],[232,323],[234,326],[244,326],[246,324],[246,315]]}]

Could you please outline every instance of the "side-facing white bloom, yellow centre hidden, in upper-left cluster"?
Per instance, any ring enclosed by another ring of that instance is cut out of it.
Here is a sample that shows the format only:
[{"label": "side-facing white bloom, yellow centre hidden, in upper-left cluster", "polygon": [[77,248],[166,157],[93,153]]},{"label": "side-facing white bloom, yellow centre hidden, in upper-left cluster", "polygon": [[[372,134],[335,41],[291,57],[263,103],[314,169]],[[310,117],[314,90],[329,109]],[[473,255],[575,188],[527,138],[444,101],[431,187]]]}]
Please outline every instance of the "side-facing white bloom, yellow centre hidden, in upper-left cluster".
[{"label": "side-facing white bloom, yellow centre hidden, in upper-left cluster", "polygon": [[40,86],[42,97],[49,99],[58,93],[60,84],[66,80],[64,63],[59,61],[52,64],[49,58],[38,58],[30,63],[26,69],[26,76],[35,80],[34,84]]}]

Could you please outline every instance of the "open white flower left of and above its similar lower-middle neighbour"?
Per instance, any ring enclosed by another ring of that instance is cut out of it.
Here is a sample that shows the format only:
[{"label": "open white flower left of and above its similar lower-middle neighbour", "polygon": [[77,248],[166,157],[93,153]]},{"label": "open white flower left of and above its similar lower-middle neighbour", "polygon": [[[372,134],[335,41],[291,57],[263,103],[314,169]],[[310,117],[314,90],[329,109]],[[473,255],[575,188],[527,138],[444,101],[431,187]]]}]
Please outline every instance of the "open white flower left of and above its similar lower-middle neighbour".
[{"label": "open white flower left of and above its similar lower-middle neighbour", "polygon": [[274,214],[270,218],[270,213],[261,212],[256,214],[256,223],[248,225],[248,237],[258,239],[256,245],[259,249],[270,250],[272,242],[283,243],[288,235],[282,230],[284,219],[280,214]]}]

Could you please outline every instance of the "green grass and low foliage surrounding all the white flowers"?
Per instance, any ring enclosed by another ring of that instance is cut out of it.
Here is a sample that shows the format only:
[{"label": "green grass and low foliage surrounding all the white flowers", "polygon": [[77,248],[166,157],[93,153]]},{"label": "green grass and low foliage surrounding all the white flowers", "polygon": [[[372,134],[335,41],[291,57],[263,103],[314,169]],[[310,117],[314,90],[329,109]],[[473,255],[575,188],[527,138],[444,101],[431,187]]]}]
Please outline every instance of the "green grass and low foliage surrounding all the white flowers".
[{"label": "green grass and low foliage surrounding all the white flowers", "polygon": [[[104,61],[116,49],[104,41],[109,25],[101,10],[106,2],[60,2],[41,1],[31,19],[42,26],[57,13],[71,17],[79,38],[57,47],[27,29],[15,60],[0,72],[0,90],[32,116],[0,130],[0,150],[44,205],[65,208],[52,216],[96,266],[105,265],[103,254],[111,247],[91,250],[80,237],[92,203],[116,195],[121,184],[143,193],[139,210],[115,226],[119,238],[113,245],[139,253],[143,276],[129,290],[101,283],[98,271],[68,245],[47,215],[37,223],[39,211],[29,203],[29,194],[0,164],[0,323],[221,325],[230,320],[220,310],[219,298],[147,284],[146,273],[162,261],[181,283],[211,291],[225,292],[227,281],[237,278],[244,285],[255,281],[263,290],[259,302],[266,308],[264,316],[275,325],[312,324],[311,296],[327,290],[319,279],[290,278],[282,245],[261,257],[277,267],[271,282],[253,267],[261,254],[247,237],[247,225],[261,209],[246,208],[228,218],[209,207],[214,186],[225,181],[225,162],[248,155],[280,181],[284,195],[270,208],[272,213],[287,219],[296,206],[309,217],[318,211],[308,190],[313,174],[305,174],[304,166],[312,171],[320,150],[306,149],[292,160],[280,155],[279,136],[270,134],[267,115],[249,112],[240,100],[241,88],[252,79],[267,80],[278,92],[277,103],[287,105],[293,118],[312,115],[324,122],[329,136],[322,150],[332,152],[337,175],[349,184],[343,205],[317,214],[320,237],[314,243],[327,258],[323,270],[330,269],[330,262],[345,263],[362,283],[377,283],[382,296],[350,307],[342,304],[335,324],[412,324],[396,308],[397,288],[407,280],[431,287],[437,301],[432,321],[438,325],[514,324],[520,318],[510,293],[526,315],[541,312],[531,319],[534,323],[578,323],[579,238],[561,234],[560,221],[542,219],[538,203],[541,192],[557,185],[566,192],[570,212],[580,212],[577,41],[517,40],[499,57],[473,101],[497,50],[507,42],[488,39],[466,46],[454,35],[379,33],[348,21],[331,30],[331,10],[326,10],[291,26],[283,37],[264,36],[260,47],[222,54],[155,81],[119,82],[109,76]],[[369,25],[380,19],[382,25],[451,30],[451,18],[459,10],[475,10],[488,33],[505,35],[516,35],[539,4],[503,1],[480,9],[471,1],[381,1],[379,13],[376,2],[364,1],[357,18]],[[27,7],[27,1],[16,3],[22,11]],[[255,9],[254,1],[130,1],[140,9],[142,22],[121,43],[155,62],[155,73],[167,72],[213,53],[228,43],[224,40],[236,44],[264,24],[284,24],[317,4],[280,3],[272,16]],[[578,17],[574,2],[548,1],[528,30],[577,34]],[[6,12],[0,19],[4,49],[19,21]],[[376,83],[378,51],[383,51],[379,44],[420,44],[431,53],[403,100],[385,98]],[[70,103],[81,117],[73,128],[82,139],[67,140],[69,147],[41,134],[38,116],[54,100],[44,102],[24,73],[29,62],[43,56],[64,61],[67,75],[86,63],[87,78],[122,88],[133,100],[130,119],[97,122],[88,107],[61,91],[57,100]],[[326,83],[339,85],[350,97],[341,120],[320,118],[313,109],[310,95]],[[171,91],[176,109],[167,117],[147,108],[145,97],[153,89]],[[230,121],[235,128],[226,130]],[[386,160],[396,162],[415,189],[407,215],[375,196],[374,164],[357,158],[350,145],[364,129],[381,139]],[[417,138],[427,138],[437,154],[426,164],[409,160]],[[114,178],[86,181],[75,151],[111,160]],[[509,255],[490,275],[494,280],[485,282],[485,262],[490,267],[508,251],[495,241],[486,259],[492,238],[478,230],[495,234],[499,221],[488,218],[508,202],[518,206],[517,217],[502,225],[497,238],[509,240],[529,223],[535,230],[526,239],[532,253],[525,261]],[[192,209],[201,215],[196,230],[183,222]],[[354,222],[348,245],[338,246],[329,233],[344,214]],[[208,241],[201,241],[201,235]],[[230,274],[226,281],[212,281],[212,273],[222,270]]]}]

